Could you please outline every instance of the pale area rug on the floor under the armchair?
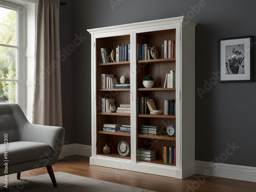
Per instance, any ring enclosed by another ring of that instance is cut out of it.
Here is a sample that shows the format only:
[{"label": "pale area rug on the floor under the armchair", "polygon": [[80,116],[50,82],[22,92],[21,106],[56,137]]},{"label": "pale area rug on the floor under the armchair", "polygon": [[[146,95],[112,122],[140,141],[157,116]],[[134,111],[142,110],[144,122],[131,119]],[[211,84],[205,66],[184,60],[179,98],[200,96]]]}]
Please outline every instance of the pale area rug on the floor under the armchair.
[{"label": "pale area rug on the floor under the armchair", "polygon": [[76,176],[72,174],[67,174],[63,172],[54,173],[57,188],[53,187],[52,181],[48,174],[30,177],[26,179],[20,179],[16,181],[11,181],[8,183],[8,188],[4,187],[3,182],[1,182],[0,191],[26,191],[26,192],[73,192],[73,191],[113,191],[113,192],[154,192],[152,190],[146,190],[136,187],[131,187],[127,185],[121,185],[117,183],[101,181],[97,179],[91,179],[87,177]]}]

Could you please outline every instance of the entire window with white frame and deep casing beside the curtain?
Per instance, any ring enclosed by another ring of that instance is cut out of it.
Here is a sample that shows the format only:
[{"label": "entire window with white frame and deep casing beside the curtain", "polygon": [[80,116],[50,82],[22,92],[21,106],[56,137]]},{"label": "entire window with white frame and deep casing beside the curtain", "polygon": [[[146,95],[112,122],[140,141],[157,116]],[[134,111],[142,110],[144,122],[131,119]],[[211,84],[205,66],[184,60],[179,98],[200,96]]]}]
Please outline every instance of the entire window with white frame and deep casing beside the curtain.
[{"label": "entire window with white frame and deep casing beside the curtain", "polygon": [[35,4],[0,0],[0,102],[16,102],[32,120]]}]

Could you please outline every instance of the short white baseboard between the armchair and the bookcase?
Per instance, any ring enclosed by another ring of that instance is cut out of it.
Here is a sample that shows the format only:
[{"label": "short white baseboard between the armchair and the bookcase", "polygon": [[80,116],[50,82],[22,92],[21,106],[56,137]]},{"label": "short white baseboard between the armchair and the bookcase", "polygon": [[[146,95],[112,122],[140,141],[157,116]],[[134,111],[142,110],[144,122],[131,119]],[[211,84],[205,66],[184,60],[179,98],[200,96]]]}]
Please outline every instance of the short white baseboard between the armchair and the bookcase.
[{"label": "short white baseboard between the armchair and the bookcase", "polygon": [[81,156],[91,157],[91,154],[92,154],[91,145],[72,143],[72,144],[63,145],[63,148],[62,148],[63,157],[67,157],[71,155],[81,155]]}]

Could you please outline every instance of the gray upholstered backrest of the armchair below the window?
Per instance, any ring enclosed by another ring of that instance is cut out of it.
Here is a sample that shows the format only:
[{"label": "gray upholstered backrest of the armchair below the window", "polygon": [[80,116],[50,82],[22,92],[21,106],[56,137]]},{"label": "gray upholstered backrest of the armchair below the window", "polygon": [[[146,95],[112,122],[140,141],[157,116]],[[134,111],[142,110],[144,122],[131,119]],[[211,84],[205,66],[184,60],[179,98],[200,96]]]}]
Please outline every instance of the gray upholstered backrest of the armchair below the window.
[{"label": "gray upholstered backrest of the armchair below the window", "polygon": [[24,125],[29,123],[17,103],[0,103],[0,143],[20,141]]}]

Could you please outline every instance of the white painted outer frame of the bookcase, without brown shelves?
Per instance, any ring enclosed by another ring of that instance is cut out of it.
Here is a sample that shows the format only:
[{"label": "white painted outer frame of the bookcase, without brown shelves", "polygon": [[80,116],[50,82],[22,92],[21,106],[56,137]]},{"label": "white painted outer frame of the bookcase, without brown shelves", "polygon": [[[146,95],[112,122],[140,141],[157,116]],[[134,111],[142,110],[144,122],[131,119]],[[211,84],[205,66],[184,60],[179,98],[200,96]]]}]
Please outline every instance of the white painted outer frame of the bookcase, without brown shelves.
[{"label": "white painted outer frame of the bookcase, without brown shelves", "polygon": [[[133,170],[179,179],[195,174],[195,20],[175,17],[88,30],[92,34],[92,157],[90,164]],[[137,127],[136,44],[137,34],[176,29],[176,166],[137,162],[137,130],[131,133],[131,159],[96,154],[96,39],[130,35],[131,127]]]}]

